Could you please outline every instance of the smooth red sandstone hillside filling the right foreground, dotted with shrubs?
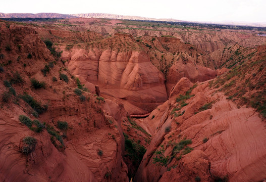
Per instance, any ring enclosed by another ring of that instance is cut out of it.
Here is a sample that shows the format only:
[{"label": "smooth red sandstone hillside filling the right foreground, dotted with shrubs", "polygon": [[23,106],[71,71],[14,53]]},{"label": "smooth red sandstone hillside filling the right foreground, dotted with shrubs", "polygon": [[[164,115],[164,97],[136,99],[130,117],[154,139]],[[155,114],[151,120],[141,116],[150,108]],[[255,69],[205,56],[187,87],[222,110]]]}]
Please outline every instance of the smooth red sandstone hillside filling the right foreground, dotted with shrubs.
[{"label": "smooth red sandstone hillside filling the right foreground, dotted with shrubs", "polygon": [[151,112],[158,127],[135,181],[263,180],[265,48],[218,78],[175,85],[166,107]]}]

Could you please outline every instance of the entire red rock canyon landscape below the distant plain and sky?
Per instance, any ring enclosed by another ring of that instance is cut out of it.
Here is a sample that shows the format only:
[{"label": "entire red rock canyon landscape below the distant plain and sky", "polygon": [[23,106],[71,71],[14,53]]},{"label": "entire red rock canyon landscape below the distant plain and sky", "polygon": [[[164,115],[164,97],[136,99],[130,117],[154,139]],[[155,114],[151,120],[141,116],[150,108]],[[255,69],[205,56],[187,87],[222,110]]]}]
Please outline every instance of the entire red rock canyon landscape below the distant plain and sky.
[{"label": "entire red rock canyon landscape below the distant plain and sky", "polygon": [[53,16],[0,20],[2,181],[265,180],[259,30]]}]

